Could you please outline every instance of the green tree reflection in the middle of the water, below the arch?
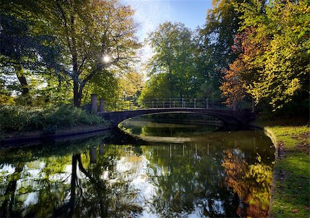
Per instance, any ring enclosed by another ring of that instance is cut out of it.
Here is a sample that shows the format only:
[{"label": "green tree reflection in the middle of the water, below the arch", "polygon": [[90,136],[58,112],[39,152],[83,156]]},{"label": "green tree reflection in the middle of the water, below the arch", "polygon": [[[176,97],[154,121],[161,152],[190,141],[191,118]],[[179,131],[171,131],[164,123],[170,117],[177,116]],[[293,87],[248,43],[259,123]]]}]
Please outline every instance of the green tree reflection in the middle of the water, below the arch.
[{"label": "green tree reflection in the middle of the water, below the arch", "polygon": [[[185,151],[176,149],[169,155],[167,150],[174,146],[185,146]],[[231,208],[238,206],[238,198],[224,187],[223,153],[208,155],[205,146],[189,144],[147,146],[144,151],[153,170],[149,177],[158,187],[150,205],[152,212],[160,217],[236,215]]]}]

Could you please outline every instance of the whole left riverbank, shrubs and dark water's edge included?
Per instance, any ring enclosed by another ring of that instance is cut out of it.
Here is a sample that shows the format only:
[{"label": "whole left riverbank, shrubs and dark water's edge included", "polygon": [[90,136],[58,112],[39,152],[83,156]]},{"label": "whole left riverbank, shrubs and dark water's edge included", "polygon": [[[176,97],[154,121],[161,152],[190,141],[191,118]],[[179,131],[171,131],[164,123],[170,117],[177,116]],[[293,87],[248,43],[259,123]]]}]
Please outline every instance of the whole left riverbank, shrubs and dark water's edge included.
[{"label": "whole left riverbank, shrubs and dark water's edge included", "polygon": [[1,147],[87,135],[110,128],[110,122],[72,105],[48,108],[14,105],[0,107]]}]

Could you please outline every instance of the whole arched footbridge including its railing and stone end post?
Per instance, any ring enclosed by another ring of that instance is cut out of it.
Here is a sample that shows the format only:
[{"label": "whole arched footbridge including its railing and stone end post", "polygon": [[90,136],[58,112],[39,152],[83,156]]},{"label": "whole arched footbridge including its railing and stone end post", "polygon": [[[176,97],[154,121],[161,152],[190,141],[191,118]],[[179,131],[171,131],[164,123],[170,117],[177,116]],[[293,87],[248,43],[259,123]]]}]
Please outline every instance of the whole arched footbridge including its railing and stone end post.
[{"label": "whole arched footbridge including its railing and stone end post", "polygon": [[[249,105],[248,105],[249,106]],[[99,110],[97,108],[96,96],[92,95],[92,111],[98,113],[105,120],[112,122],[112,127],[116,127],[123,120],[134,118],[137,116],[145,116],[161,113],[200,113],[207,116],[213,116],[225,124],[236,124],[245,126],[249,122],[253,122],[256,118],[253,105],[249,107],[240,107],[238,110],[229,109],[223,104],[211,102],[204,99],[193,100],[185,98],[165,98],[142,102],[137,105],[136,102],[121,101],[110,102],[110,105],[105,104],[104,100],[100,100]],[[106,109],[114,111],[106,111]]]}]

